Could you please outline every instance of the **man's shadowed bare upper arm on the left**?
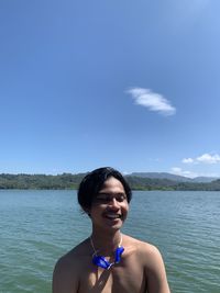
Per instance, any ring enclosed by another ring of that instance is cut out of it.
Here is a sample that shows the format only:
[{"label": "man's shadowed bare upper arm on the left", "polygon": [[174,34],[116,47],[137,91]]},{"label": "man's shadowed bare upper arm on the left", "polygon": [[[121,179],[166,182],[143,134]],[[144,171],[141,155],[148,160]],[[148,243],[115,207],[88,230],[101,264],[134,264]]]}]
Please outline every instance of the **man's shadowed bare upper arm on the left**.
[{"label": "man's shadowed bare upper arm on the left", "polygon": [[65,259],[59,259],[53,273],[53,293],[77,293],[78,278],[73,264]]}]

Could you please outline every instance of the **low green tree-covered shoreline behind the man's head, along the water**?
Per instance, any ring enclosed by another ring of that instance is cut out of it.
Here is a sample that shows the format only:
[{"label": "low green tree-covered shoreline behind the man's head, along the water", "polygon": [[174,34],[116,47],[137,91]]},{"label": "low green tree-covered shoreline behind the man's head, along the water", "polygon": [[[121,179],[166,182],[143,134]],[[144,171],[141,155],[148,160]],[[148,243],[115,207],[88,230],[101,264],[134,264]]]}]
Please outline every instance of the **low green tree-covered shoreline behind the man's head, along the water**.
[{"label": "low green tree-covered shoreline behind the man's head, along the water", "polygon": [[[85,173],[72,174],[0,174],[0,189],[77,189]],[[186,182],[166,178],[125,176],[133,190],[220,191],[220,179],[211,182]]]}]

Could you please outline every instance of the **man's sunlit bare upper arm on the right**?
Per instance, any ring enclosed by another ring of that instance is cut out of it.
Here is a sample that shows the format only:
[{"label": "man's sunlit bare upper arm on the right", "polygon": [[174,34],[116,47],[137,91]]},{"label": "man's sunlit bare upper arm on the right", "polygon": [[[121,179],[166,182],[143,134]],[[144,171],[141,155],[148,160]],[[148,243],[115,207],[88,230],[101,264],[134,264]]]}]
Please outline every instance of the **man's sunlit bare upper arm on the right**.
[{"label": "man's sunlit bare upper arm on the right", "polygon": [[147,256],[146,280],[148,293],[170,293],[161,252],[152,247]]}]

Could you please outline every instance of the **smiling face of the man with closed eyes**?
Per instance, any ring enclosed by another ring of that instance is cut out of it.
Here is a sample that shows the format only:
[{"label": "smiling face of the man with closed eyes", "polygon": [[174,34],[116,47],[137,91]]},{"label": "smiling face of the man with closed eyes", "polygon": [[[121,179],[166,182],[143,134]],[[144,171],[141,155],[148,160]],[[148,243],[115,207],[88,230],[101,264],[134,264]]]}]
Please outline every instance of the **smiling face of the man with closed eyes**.
[{"label": "smiling face of the man with closed eyes", "polygon": [[120,229],[127,218],[129,204],[122,183],[108,178],[95,196],[89,211],[94,228]]}]

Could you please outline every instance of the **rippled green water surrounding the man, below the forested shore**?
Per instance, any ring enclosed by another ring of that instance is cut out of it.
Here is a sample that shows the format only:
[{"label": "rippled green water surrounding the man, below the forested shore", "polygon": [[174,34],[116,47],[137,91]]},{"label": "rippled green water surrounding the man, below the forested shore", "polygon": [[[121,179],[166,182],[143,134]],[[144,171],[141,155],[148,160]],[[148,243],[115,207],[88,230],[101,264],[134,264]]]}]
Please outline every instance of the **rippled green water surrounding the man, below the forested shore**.
[{"label": "rippled green water surrounding the man, below the forested shore", "polygon": [[[219,211],[218,192],[134,192],[123,232],[160,248],[173,293],[220,293]],[[47,293],[90,222],[75,191],[0,190],[0,293]]]}]

